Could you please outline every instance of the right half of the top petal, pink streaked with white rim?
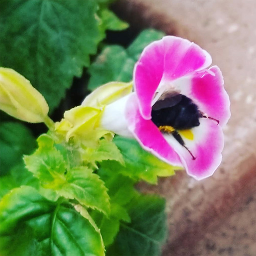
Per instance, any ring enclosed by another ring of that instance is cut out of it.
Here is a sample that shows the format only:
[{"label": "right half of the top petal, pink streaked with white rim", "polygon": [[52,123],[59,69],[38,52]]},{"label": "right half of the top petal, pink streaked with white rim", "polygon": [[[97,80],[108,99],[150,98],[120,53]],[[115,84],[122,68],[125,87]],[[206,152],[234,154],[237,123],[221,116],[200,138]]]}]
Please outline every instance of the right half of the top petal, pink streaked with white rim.
[{"label": "right half of the top petal, pink streaked with white rim", "polygon": [[211,65],[212,59],[206,50],[189,40],[165,36],[164,44],[164,81],[173,81]]}]

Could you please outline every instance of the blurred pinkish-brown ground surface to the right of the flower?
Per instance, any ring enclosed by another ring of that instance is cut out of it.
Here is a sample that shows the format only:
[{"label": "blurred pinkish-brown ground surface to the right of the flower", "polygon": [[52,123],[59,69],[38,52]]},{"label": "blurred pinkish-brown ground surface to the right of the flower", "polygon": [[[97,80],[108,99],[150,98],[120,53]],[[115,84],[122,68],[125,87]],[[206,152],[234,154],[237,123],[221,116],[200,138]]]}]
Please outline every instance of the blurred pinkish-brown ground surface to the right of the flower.
[{"label": "blurred pinkish-brown ground surface to the right of the flower", "polygon": [[126,0],[112,9],[131,24],[126,34],[152,27],[206,49],[231,100],[223,161],[211,178],[180,172],[157,187],[140,184],[167,199],[163,255],[256,255],[256,1]]}]

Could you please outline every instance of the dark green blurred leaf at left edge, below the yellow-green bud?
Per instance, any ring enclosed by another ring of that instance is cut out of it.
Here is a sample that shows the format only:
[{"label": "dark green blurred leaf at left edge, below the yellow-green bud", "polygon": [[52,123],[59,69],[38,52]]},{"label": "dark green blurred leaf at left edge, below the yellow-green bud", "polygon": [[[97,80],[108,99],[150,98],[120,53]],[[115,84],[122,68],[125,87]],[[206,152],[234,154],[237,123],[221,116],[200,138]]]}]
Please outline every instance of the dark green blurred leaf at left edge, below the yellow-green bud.
[{"label": "dark green blurred leaf at left edge, below the yellow-green bud", "polygon": [[23,154],[30,154],[36,148],[31,131],[21,123],[3,122],[0,129],[1,175],[22,162]]}]

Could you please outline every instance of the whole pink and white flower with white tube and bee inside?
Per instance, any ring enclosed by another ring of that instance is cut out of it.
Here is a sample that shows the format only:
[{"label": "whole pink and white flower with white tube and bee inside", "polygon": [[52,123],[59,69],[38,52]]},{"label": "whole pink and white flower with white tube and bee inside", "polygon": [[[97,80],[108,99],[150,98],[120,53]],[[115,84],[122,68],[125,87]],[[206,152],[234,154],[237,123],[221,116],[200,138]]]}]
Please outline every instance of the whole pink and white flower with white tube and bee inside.
[{"label": "whole pink and white flower with white tube and bee inside", "polygon": [[108,105],[102,125],[135,137],[147,151],[197,180],[221,163],[230,100],[211,56],[195,43],[165,36],[144,48],[134,93]]}]

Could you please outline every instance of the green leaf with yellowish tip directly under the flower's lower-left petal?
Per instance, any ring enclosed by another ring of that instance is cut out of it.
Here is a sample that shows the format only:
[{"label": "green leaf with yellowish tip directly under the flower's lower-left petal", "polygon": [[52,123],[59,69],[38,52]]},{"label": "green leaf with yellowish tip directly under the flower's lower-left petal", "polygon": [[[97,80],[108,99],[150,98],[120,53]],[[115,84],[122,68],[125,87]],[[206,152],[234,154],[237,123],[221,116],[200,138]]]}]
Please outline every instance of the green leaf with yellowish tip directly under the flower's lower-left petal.
[{"label": "green leaf with yellowish tip directly under the flower's lower-left petal", "polygon": [[181,169],[177,166],[171,166],[145,151],[134,139],[116,136],[113,141],[123,154],[125,167],[114,161],[104,161],[101,164],[101,168],[104,170],[118,172],[135,180],[142,179],[156,184],[157,176],[171,176],[175,174],[175,170]]}]

